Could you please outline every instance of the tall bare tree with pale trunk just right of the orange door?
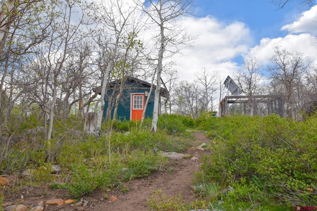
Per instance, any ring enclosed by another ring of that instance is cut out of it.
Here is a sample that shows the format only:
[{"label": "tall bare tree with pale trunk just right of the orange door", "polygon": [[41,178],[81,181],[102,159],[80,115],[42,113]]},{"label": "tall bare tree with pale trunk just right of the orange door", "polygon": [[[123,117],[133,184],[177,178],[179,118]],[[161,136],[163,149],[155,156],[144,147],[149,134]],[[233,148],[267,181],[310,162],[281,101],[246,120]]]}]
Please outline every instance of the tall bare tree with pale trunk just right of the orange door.
[{"label": "tall bare tree with pale trunk just right of the orange door", "polygon": [[179,52],[180,47],[192,40],[185,34],[184,28],[177,23],[182,16],[191,15],[194,6],[193,0],[135,0],[148,15],[149,25],[157,28],[157,84],[154,99],[154,111],[151,130],[157,131],[159,115],[159,92],[161,87],[161,74],[163,71],[163,59]]}]

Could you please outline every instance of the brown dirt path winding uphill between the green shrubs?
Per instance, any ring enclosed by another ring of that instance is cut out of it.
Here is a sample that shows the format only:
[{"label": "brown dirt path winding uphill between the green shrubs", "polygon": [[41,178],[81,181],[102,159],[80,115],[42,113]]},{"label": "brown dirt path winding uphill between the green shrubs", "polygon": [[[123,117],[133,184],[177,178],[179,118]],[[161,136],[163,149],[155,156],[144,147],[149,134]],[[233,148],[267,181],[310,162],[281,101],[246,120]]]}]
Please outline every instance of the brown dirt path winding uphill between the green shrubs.
[{"label": "brown dirt path winding uphill between the green shrubs", "polygon": [[195,132],[196,140],[193,140],[192,148],[188,149],[184,154],[190,154],[198,158],[198,160],[178,159],[169,160],[169,167],[173,168],[172,172],[154,172],[148,177],[135,179],[131,181],[129,192],[126,194],[118,194],[118,200],[107,203],[106,210],[116,211],[149,211],[146,200],[150,199],[154,191],[161,190],[161,194],[165,194],[166,198],[173,197],[181,193],[183,199],[187,202],[193,200],[192,179],[194,172],[199,171],[201,165],[201,157],[206,151],[197,150],[197,143],[209,142],[210,140],[203,134]]}]

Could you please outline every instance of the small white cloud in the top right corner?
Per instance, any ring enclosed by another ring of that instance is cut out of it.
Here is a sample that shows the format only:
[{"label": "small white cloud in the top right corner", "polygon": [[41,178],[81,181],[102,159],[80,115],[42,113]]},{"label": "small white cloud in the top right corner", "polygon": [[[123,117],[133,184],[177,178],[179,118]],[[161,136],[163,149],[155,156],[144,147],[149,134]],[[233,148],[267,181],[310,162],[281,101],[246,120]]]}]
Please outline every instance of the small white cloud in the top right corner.
[{"label": "small white cloud in the top right corner", "polygon": [[291,24],[283,26],[282,30],[287,30],[290,33],[312,33],[317,34],[317,5],[313,6],[310,10],[303,12]]}]

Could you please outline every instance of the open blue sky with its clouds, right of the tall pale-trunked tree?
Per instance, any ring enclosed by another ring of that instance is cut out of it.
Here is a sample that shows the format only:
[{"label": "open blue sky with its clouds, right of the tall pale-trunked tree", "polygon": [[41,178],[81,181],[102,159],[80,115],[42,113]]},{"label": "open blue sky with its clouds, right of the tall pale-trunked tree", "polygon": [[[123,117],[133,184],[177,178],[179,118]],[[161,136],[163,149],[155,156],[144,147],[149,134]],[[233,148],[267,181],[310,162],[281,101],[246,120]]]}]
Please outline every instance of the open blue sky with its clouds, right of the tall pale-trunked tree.
[{"label": "open blue sky with its clouds, right of the tall pale-trunked tree", "polygon": [[251,57],[265,65],[276,45],[316,59],[316,2],[310,7],[293,0],[278,9],[270,1],[196,0],[196,16],[187,18],[187,24],[198,39],[193,48],[175,57],[183,80],[190,81],[194,72],[203,69],[220,72],[225,78]]}]

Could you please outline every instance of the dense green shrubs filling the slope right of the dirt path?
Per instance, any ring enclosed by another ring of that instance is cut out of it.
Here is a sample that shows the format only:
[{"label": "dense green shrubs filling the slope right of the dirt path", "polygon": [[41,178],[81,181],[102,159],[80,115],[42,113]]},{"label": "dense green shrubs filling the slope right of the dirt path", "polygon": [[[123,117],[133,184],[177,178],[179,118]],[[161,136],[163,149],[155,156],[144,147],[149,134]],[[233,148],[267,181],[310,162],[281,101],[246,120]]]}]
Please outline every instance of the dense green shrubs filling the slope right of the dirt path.
[{"label": "dense green shrubs filling the slope right of the dirt path", "polygon": [[199,175],[204,181],[234,187],[224,198],[229,204],[273,200],[282,205],[315,205],[316,120],[299,123],[269,115],[202,121],[201,127],[210,129],[216,144],[203,159]]}]

